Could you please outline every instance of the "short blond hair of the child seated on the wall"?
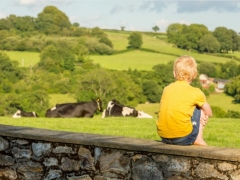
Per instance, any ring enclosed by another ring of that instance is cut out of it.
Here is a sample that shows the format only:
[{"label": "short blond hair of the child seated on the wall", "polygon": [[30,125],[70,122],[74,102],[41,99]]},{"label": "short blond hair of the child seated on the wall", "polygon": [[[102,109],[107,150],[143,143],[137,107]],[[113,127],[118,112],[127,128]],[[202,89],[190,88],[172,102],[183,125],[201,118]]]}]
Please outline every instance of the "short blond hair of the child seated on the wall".
[{"label": "short blond hair of the child seated on the wall", "polygon": [[173,71],[177,80],[192,81],[198,74],[197,63],[191,56],[181,56],[175,60]]}]

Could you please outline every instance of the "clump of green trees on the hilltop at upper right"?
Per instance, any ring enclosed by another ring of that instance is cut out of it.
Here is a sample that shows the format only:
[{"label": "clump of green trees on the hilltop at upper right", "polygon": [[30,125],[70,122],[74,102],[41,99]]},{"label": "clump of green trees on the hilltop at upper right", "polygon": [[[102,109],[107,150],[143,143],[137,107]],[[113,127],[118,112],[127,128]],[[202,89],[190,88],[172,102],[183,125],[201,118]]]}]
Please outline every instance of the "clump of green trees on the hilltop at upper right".
[{"label": "clump of green trees on the hilltop at upper right", "polygon": [[167,28],[168,41],[177,47],[199,52],[234,52],[240,49],[240,37],[232,29],[217,27],[213,32],[202,24],[170,24]]}]

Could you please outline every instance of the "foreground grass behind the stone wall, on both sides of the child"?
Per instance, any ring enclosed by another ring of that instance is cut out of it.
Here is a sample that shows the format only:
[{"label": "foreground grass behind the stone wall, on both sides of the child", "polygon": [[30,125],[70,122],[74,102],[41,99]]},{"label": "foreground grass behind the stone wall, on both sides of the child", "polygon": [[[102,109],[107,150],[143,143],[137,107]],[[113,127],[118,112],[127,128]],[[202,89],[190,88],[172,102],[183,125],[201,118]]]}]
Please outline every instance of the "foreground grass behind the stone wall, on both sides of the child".
[{"label": "foreground grass behind the stone wall, on both sides of the child", "polygon": [[[240,120],[210,118],[204,129],[204,139],[210,146],[240,148]],[[125,136],[160,140],[156,132],[156,118],[133,117],[93,118],[21,118],[0,117],[0,123],[13,126]]]}]

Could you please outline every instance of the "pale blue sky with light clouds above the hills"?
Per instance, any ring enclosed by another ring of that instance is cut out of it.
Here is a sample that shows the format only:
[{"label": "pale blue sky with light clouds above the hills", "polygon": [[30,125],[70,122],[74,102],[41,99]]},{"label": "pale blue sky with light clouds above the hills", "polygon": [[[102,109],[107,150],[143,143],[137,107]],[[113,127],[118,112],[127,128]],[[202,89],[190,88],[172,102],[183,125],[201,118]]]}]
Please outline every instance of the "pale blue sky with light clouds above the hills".
[{"label": "pale blue sky with light clouds above the hills", "polygon": [[166,32],[173,23],[203,24],[209,31],[226,27],[240,32],[240,0],[0,0],[0,19],[37,17],[55,6],[81,27]]}]

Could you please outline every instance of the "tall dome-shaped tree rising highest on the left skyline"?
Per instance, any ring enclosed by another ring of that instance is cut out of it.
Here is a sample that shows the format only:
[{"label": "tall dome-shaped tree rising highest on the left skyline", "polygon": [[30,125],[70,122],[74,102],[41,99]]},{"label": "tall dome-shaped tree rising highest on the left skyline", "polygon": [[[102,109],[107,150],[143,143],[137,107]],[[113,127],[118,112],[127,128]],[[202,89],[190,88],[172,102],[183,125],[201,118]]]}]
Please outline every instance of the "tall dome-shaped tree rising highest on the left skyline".
[{"label": "tall dome-shaped tree rising highest on the left skyline", "polygon": [[68,17],[55,6],[46,6],[36,19],[36,29],[45,34],[58,34],[63,28],[70,27]]}]

